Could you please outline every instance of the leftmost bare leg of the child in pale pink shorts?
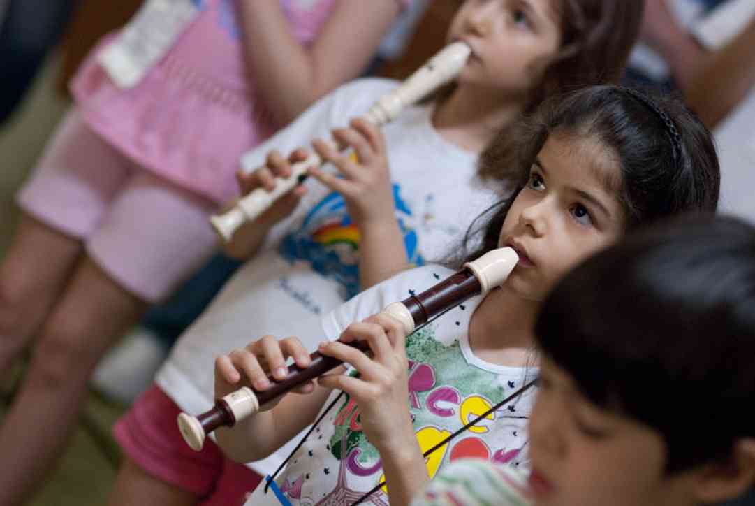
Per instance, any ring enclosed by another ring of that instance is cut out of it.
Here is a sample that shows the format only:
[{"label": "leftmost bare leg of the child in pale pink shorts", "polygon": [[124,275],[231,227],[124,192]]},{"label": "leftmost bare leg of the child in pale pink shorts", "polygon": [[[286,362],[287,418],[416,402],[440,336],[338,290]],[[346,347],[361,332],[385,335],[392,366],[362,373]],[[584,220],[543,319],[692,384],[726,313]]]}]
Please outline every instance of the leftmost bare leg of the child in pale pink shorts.
[{"label": "leftmost bare leg of the child in pale pink shorts", "polygon": [[0,264],[0,375],[45,321],[81,251],[78,239],[22,216]]}]

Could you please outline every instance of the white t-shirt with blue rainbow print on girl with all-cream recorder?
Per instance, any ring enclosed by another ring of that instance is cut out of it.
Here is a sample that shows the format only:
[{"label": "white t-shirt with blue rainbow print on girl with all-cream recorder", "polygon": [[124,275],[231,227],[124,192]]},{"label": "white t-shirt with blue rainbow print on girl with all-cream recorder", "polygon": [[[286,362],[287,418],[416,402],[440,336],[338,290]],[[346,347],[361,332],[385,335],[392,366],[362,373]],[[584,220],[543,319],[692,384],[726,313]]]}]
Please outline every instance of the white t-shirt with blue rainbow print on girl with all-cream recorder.
[{"label": "white t-shirt with blue rainbow print on girl with all-cream recorder", "polygon": [[[396,85],[362,79],[342,86],[245,156],[244,164],[257,167],[273,148],[290,153],[316,137],[328,138],[333,128],[365,113]],[[408,107],[383,128],[396,218],[416,265],[447,255],[479,211],[495,200],[476,175],[476,153],[443,140],[431,125],[432,110],[431,105]],[[296,211],[273,227],[257,255],[227,282],[158,372],[156,383],[186,412],[204,412],[213,404],[215,356],[268,334],[297,335],[314,350],[323,335],[319,317],[359,292],[359,232],[344,199],[313,178],[304,184],[309,191]],[[271,473],[290,447],[250,465],[260,474]]]}]

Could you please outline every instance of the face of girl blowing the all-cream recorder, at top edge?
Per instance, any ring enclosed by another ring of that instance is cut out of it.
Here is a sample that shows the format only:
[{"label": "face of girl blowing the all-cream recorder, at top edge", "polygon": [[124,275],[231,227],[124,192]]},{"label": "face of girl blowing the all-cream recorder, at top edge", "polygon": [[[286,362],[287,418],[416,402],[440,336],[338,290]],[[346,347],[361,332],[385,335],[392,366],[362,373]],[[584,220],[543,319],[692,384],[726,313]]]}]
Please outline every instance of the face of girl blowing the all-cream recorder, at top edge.
[{"label": "face of girl blowing the all-cream recorder, at top edge", "polygon": [[472,56],[457,81],[507,94],[537,86],[559,49],[561,30],[554,0],[467,0],[448,29]]}]

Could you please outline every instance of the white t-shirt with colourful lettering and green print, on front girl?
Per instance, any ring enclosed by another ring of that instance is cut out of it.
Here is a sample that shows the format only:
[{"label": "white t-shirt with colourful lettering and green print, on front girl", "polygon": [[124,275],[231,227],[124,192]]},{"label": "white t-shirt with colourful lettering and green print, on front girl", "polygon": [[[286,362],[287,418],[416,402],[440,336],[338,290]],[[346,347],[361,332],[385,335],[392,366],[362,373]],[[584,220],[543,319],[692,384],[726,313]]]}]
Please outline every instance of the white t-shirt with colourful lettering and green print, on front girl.
[{"label": "white t-shirt with colourful lettering and green print, on front girl", "polygon": [[[322,319],[327,337],[337,338],[351,322],[365,319],[393,301],[424,292],[452,273],[446,267],[427,265],[362,292]],[[423,452],[537,374],[536,367],[498,366],[474,355],[467,332],[480,301],[479,295],[470,298],[407,338],[408,404]],[[338,393],[331,394],[325,406]],[[460,458],[483,458],[522,470],[529,467],[526,424],[534,395],[535,389],[530,388],[428,455],[430,477]],[[344,395],[293,455],[276,483],[291,504],[304,506],[351,504],[383,479],[380,455],[361,430],[356,403]],[[364,504],[387,504],[387,495],[374,492]]]}]

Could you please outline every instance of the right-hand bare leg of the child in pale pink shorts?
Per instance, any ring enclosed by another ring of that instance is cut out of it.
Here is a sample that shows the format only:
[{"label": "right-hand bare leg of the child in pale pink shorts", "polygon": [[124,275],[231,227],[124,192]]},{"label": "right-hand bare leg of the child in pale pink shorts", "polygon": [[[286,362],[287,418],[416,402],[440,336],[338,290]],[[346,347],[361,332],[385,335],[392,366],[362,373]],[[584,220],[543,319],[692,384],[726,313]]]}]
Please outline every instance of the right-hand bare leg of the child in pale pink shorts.
[{"label": "right-hand bare leg of the child in pale pink shorts", "polygon": [[0,504],[23,504],[57,460],[94,366],[145,308],[82,258],[45,319],[25,383],[0,429]]}]

